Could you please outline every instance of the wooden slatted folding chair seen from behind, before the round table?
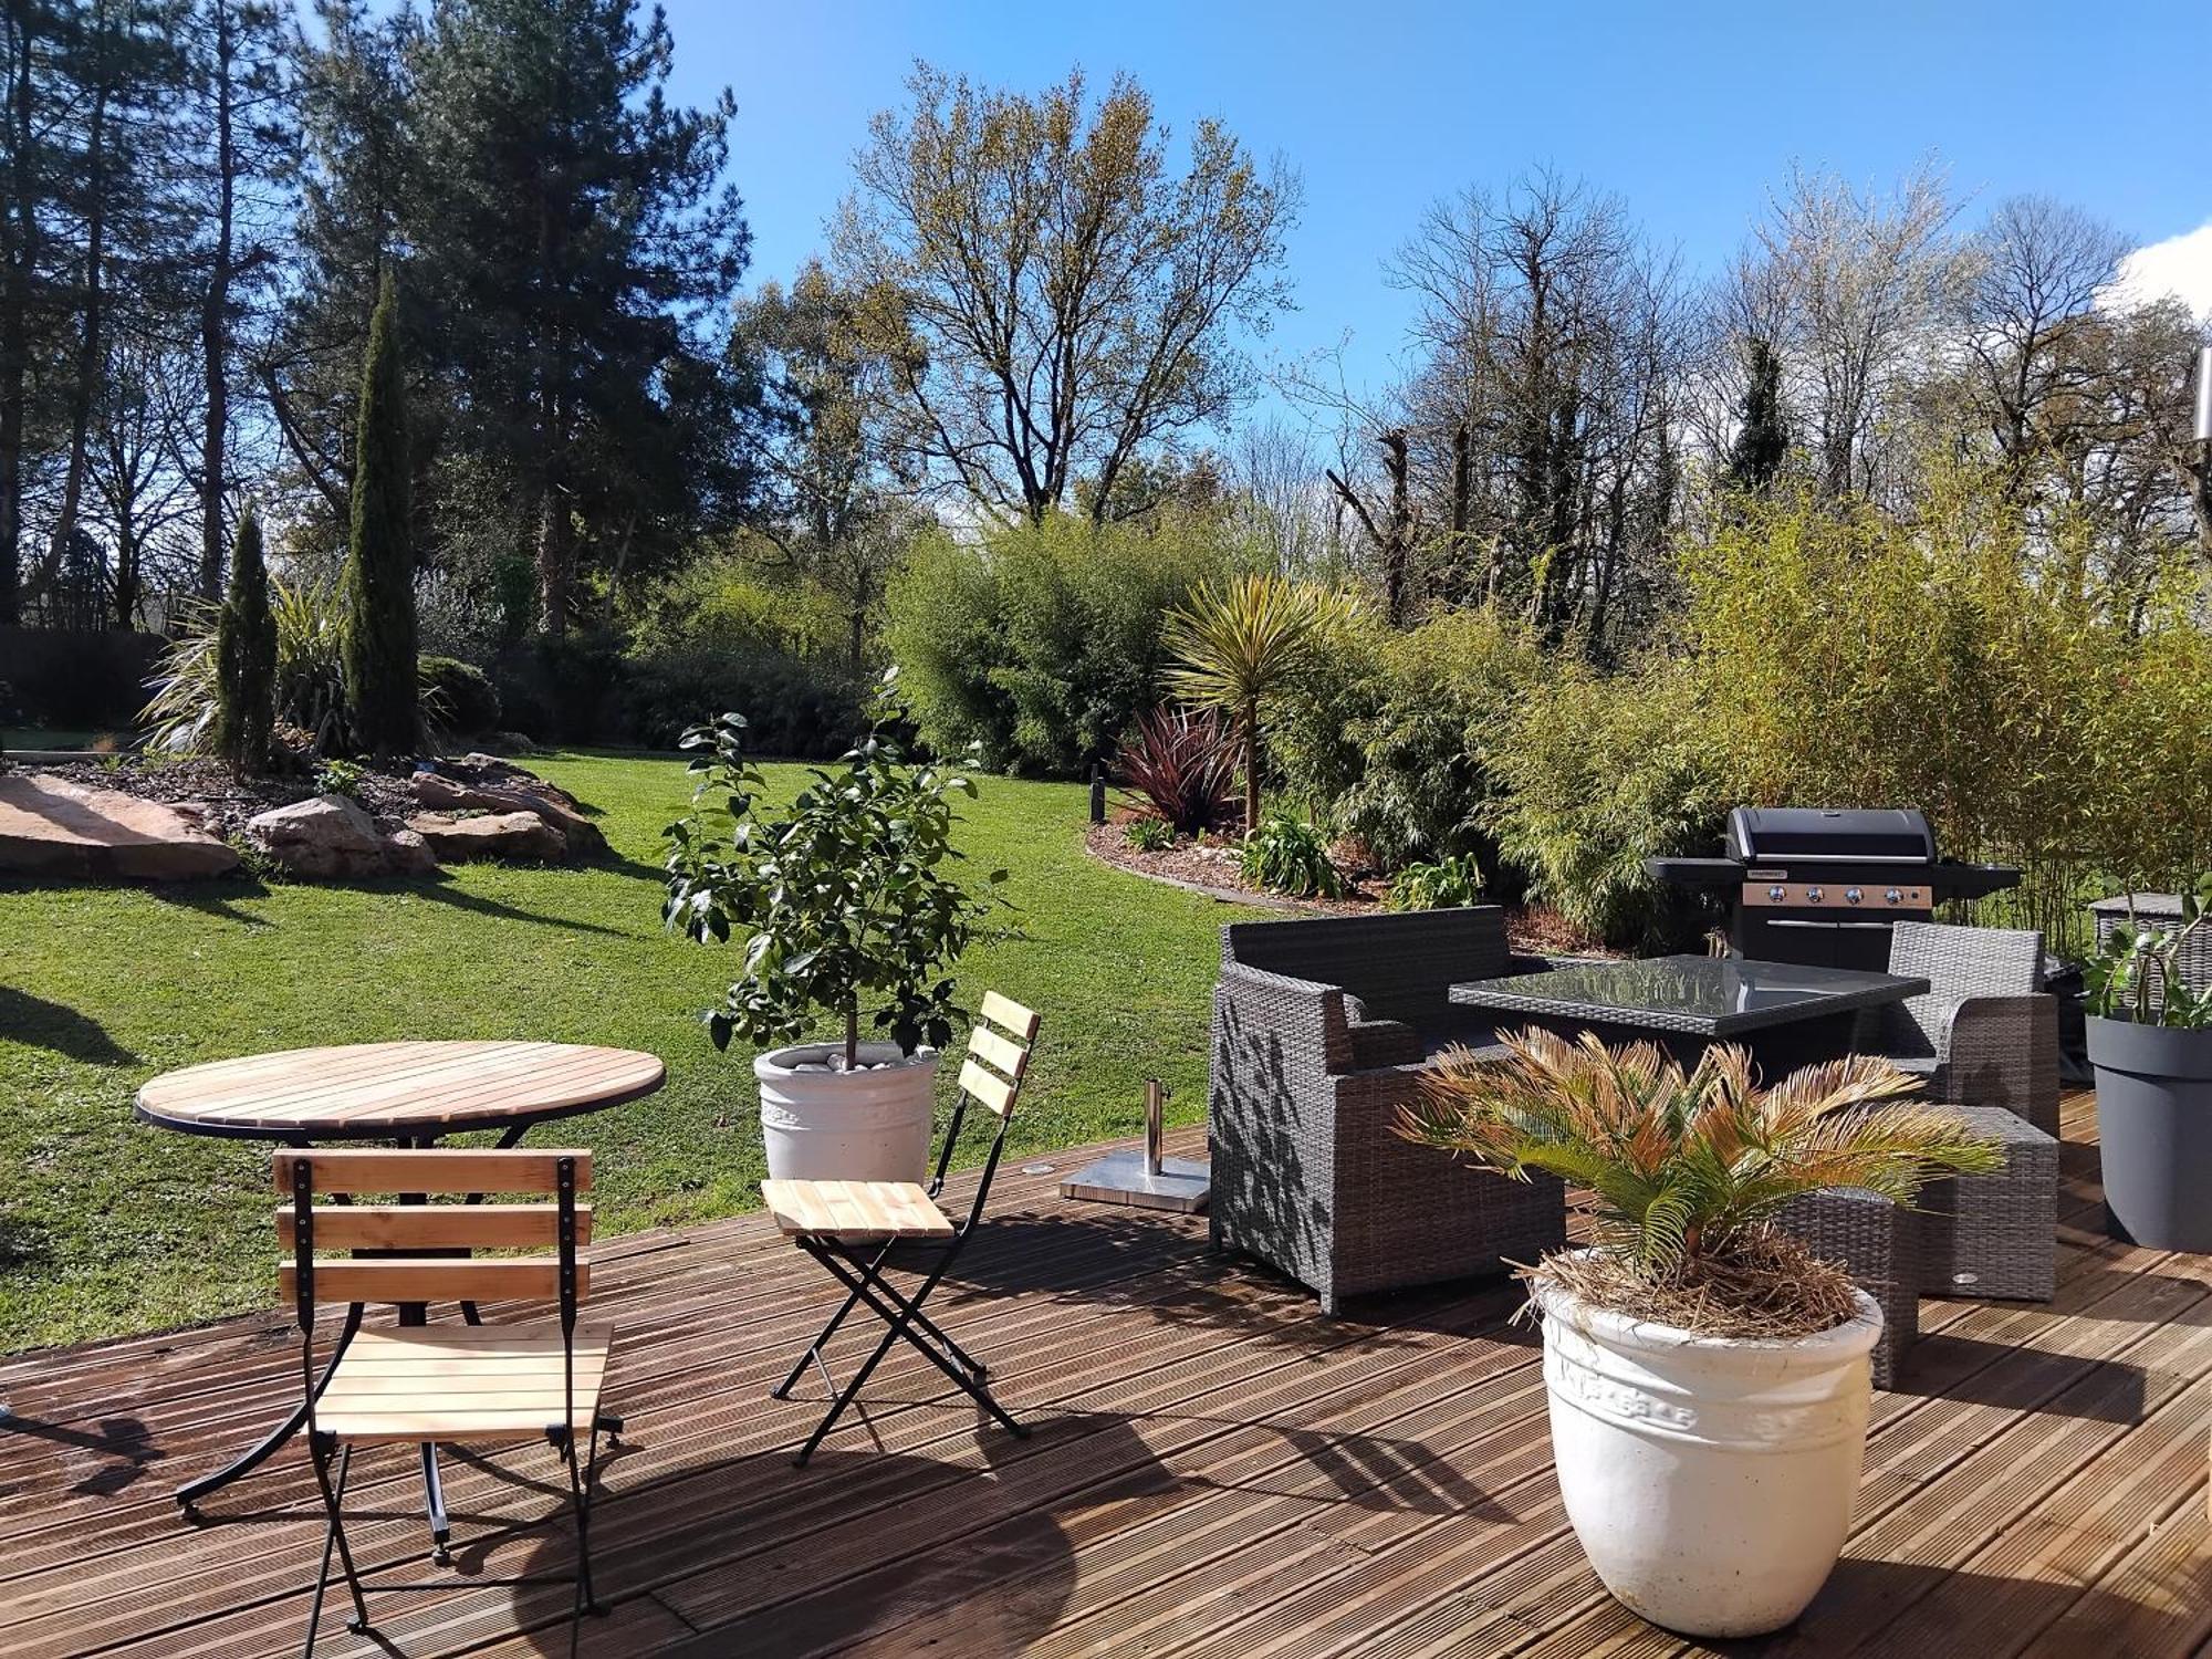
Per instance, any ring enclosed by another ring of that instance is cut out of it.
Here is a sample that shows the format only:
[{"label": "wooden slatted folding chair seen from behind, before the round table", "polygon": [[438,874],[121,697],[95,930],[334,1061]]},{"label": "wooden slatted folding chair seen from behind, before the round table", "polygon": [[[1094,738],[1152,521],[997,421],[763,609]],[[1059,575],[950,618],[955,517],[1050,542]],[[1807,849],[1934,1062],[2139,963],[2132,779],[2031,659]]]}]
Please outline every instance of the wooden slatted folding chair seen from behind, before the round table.
[{"label": "wooden slatted folding chair seen from behind, before the round table", "polygon": [[[276,1237],[283,1294],[301,1329],[307,1453],[330,1513],[323,1564],[307,1608],[314,1652],[336,1553],[354,1597],[349,1630],[369,1628],[367,1590],[447,1590],[438,1584],[365,1584],[345,1542],[345,1478],[358,1444],[487,1442],[544,1436],[568,1471],[575,1513],[575,1573],[562,1577],[467,1579],[467,1584],[575,1584],[568,1650],[591,1593],[591,1489],[599,1462],[599,1389],[615,1340],[608,1323],[580,1323],[591,1294],[591,1152],[582,1150],[334,1150],[276,1152]],[[316,1203],[314,1194],[336,1203]],[[407,1203],[354,1203],[356,1194],[407,1194]],[[427,1194],[469,1194],[427,1203]],[[480,1203],[482,1194],[551,1194],[551,1203]],[[316,1256],[352,1250],[352,1256]],[[535,1254],[467,1256],[467,1250]],[[445,1252],[445,1254],[440,1254]],[[557,1321],[529,1325],[400,1325],[358,1329],[363,1303],[403,1310],[431,1301],[555,1301]],[[316,1301],[347,1303],[347,1338],[327,1367],[314,1365]],[[580,1442],[584,1447],[577,1455]],[[336,1464],[336,1478],[332,1478]]]}]

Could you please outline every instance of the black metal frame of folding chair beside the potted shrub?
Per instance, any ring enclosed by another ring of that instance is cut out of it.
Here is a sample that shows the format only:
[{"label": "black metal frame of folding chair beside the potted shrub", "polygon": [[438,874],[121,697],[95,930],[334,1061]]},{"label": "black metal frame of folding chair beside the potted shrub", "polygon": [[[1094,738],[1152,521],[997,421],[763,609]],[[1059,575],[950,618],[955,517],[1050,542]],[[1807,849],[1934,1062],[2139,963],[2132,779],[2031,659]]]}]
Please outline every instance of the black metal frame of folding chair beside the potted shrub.
[{"label": "black metal frame of folding chair beside the potted shrub", "polygon": [[[980,1095],[975,1095],[975,1091],[969,1086],[971,1073],[982,1073],[982,1077],[987,1077],[991,1084],[1004,1082],[1011,1086],[1006,1093],[1004,1110],[995,1113],[998,1130],[991,1135],[991,1150],[984,1155],[982,1175],[975,1181],[975,1199],[969,1203],[967,1217],[953,1223],[951,1237],[887,1239],[880,1248],[874,1248],[874,1254],[869,1254],[867,1245],[841,1243],[836,1239],[818,1234],[799,1234],[794,1239],[794,1243],[810,1256],[814,1256],[814,1261],[818,1261],[832,1279],[845,1285],[847,1292],[845,1303],[830,1316],[830,1323],[823,1325],[821,1334],[812,1343],[807,1343],[805,1352],[792,1363],[790,1376],[785,1376],[783,1383],[779,1383],[768,1391],[770,1398],[774,1400],[790,1400],[792,1389],[799,1385],[799,1378],[805,1374],[810,1363],[823,1376],[823,1387],[830,1394],[830,1411],[823,1413],[823,1420],[814,1425],[814,1433],[807,1436],[807,1442],[799,1449],[799,1455],[792,1458],[792,1464],[799,1469],[805,1469],[807,1460],[814,1455],[814,1449],[836,1427],[838,1418],[845,1416],[845,1409],[860,1396],[860,1389],[867,1385],[867,1378],[874,1376],[876,1367],[900,1340],[905,1340],[909,1347],[922,1354],[931,1365],[936,1365],[947,1378],[951,1378],[953,1385],[962,1394],[967,1394],[975,1405],[989,1411],[991,1418],[995,1418],[998,1425],[1006,1429],[1006,1433],[1011,1433],[1015,1440],[1029,1438],[1029,1429],[1015,1422],[1013,1416],[991,1396],[989,1367],[973,1354],[969,1354],[964,1347],[960,1347],[960,1343],[947,1336],[945,1329],[936,1321],[931,1321],[929,1314],[922,1312],[922,1303],[929,1301],[929,1292],[938,1287],[938,1281],[942,1281],[945,1274],[951,1270],[953,1261],[960,1259],[960,1250],[975,1234],[975,1228],[982,1221],[984,1201],[991,1197],[991,1179],[998,1175],[998,1159],[1000,1152],[1004,1152],[1006,1148],[1006,1126],[1013,1124],[1013,1110],[1015,1104],[1020,1102],[1022,1079],[1029,1073],[1029,1057],[1037,1037],[1037,1024],[1040,1024],[1037,1015],[995,993],[984,995],[982,1018],[978,1020],[980,1031],[989,1031],[989,1026],[984,1024],[987,1020],[995,1020],[1015,1033],[1018,1042],[1022,1044],[1022,1057],[1013,1077],[1000,1079],[975,1064],[973,1055],[982,1053],[982,1048],[978,1048],[980,1040],[975,1035],[969,1037],[971,1057],[960,1071],[960,1088],[953,1097],[953,1115],[951,1121],[945,1126],[945,1144],[938,1150],[936,1172],[931,1175],[929,1186],[925,1188],[931,1203],[936,1203],[938,1194],[945,1190],[945,1177],[951,1170],[953,1146],[958,1146],[960,1141],[960,1124],[967,1119],[969,1102],[980,1099]],[[991,1035],[995,1037],[998,1033]],[[989,1102],[984,1102],[984,1110],[991,1110]],[[936,1254],[936,1261],[922,1274],[920,1285],[914,1290],[911,1296],[900,1294],[885,1279],[885,1267],[902,1267],[909,1272],[920,1272],[920,1267],[905,1267],[905,1263],[894,1261],[894,1254]],[[876,1318],[880,1318],[887,1325],[887,1329],[883,1334],[883,1340],[876,1343],[876,1349],[860,1363],[860,1369],[854,1371],[852,1383],[838,1389],[836,1378],[830,1376],[830,1363],[823,1358],[823,1349],[827,1347],[830,1338],[836,1336],[847,1314],[852,1314],[852,1310],[860,1307],[863,1303],[872,1314],[876,1314]]]}]

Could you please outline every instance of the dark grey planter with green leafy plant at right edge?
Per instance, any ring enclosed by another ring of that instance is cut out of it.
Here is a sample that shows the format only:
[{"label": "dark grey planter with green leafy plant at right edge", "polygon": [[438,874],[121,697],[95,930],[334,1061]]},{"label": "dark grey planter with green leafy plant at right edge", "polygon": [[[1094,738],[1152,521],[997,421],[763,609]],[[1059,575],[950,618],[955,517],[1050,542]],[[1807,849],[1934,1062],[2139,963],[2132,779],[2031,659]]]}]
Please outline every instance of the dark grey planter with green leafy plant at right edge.
[{"label": "dark grey planter with green leafy plant at right edge", "polygon": [[2212,1250],[2212,984],[2181,973],[2208,927],[2212,874],[2174,927],[2130,907],[2081,973],[2108,1228],[2152,1250]]}]

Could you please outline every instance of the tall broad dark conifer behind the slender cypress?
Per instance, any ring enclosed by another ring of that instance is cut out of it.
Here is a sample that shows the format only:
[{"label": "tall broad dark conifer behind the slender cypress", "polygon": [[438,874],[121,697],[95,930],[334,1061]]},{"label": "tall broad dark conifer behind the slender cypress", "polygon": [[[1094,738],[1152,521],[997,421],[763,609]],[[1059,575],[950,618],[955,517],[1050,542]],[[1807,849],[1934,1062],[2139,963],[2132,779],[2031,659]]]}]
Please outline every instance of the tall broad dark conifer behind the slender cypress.
[{"label": "tall broad dark conifer behind the slender cypress", "polygon": [[[721,330],[745,265],[730,93],[668,97],[637,0],[445,0],[414,66],[407,283],[442,319],[445,445],[526,520],[538,624],[741,504]],[[708,442],[714,440],[714,442]]]}]

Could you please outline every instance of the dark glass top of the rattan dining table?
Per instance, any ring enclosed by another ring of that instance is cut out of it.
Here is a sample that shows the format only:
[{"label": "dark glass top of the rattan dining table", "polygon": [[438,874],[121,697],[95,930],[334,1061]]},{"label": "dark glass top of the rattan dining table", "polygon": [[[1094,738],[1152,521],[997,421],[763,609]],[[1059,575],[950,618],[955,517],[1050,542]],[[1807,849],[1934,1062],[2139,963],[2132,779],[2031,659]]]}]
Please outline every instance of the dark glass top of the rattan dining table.
[{"label": "dark glass top of the rattan dining table", "polygon": [[1927,989],[1927,980],[1893,973],[1754,962],[1734,956],[1652,956],[1637,962],[1577,962],[1548,973],[1471,980],[1451,987],[1451,1000],[1478,1009],[1725,1035],[1902,1002]]}]

